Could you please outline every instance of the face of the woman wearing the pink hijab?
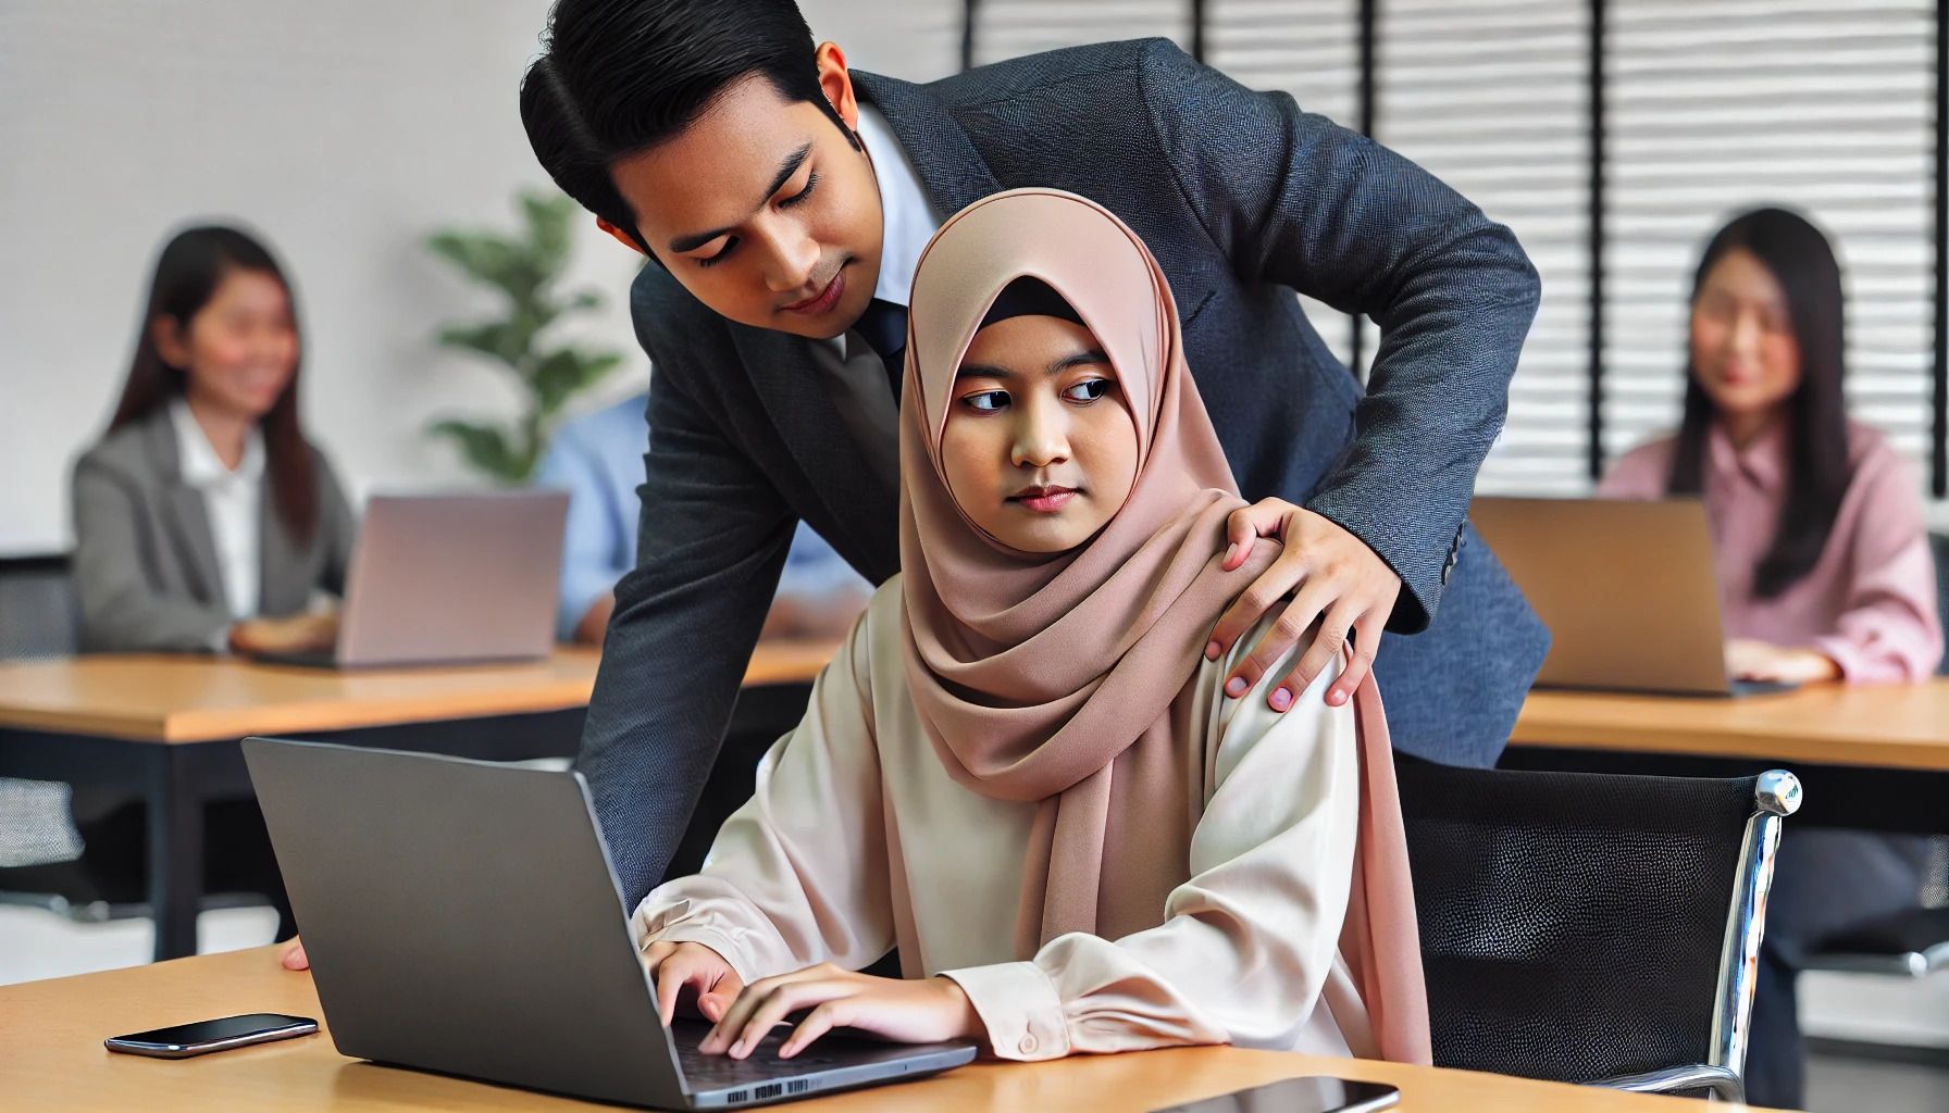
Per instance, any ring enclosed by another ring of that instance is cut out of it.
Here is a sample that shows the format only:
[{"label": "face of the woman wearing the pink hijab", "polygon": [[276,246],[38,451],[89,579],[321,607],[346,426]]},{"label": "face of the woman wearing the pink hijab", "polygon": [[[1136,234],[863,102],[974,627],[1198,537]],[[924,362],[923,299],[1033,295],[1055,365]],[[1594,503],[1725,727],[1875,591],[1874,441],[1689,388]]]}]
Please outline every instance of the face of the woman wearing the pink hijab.
[{"label": "face of the woman wearing the pink hijab", "polygon": [[1010,548],[1054,554],[1095,536],[1136,481],[1136,421],[1095,335],[1045,316],[974,333],[941,466],[961,511]]}]

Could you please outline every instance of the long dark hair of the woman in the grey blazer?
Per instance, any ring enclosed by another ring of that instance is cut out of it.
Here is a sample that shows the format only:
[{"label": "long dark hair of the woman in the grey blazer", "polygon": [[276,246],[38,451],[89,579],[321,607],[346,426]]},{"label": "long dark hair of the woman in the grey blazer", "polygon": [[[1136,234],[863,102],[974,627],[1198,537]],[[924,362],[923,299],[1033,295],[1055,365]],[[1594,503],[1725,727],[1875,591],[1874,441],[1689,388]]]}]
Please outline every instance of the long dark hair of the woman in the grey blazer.
[{"label": "long dark hair of the woman in the grey blazer", "polygon": [[[156,259],[156,277],[148,285],[148,304],[136,329],[134,361],[123,384],[109,433],[140,421],[185,390],[187,372],[162,359],[156,347],[156,322],[168,318],[175,327],[187,327],[216,294],[216,287],[234,271],[271,275],[290,300],[290,327],[298,329],[298,294],[290,288],[283,267],[271,251],[251,236],[224,226],[185,228],[177,232]],[[302,363],[304,343],[298,337]],[[298,366],[290,382],[259,419],[263,427],[265,474],[271,480],[271,505],[277,517],[300,542],[318,528],[318,481],[312,474],[312,446],[298,423]]]}]

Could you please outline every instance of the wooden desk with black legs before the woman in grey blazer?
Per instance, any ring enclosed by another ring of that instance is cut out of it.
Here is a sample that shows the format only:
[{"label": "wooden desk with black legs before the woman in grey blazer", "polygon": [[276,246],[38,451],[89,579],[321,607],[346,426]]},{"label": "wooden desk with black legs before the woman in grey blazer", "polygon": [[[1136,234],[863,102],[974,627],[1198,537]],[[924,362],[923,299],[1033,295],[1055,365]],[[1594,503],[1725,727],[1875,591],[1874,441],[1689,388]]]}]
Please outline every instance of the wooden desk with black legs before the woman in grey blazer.
[{"label": "wooden desk with black legs before the woman in grey blazer", "polygon": [[[750,729],[776,727],[793,702],[803,708],[803,686],[834,649],[762,643],[745,674]],[[355,672],[181,655],[6,663],[0,776],[142,793],[156,957],[173,959],[197,949],[203,803],[251,791],[238,741],[283,735],[489,760],[571,756],[596,663],[594,649],[571,647],[520,665]]]}]

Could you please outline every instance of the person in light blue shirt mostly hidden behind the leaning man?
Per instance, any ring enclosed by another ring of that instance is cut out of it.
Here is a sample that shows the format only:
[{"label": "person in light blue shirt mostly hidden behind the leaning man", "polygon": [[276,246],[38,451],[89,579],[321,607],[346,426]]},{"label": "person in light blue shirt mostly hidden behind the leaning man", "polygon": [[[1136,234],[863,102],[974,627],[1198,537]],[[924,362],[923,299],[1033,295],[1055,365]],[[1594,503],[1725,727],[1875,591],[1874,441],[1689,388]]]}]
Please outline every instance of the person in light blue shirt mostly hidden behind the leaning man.
[{"label": "person in light blue shirt mostly hidden behind the leaning man", "polygon": [[[635,394],[555,431],[534,481],[569,491],[555,635],[602,643],[616,581],[635,569],[637,485],[643,481],[643,409]],[[778,581],[764,637],[840,635],[871,587],[817,532],[799,522]]]}]

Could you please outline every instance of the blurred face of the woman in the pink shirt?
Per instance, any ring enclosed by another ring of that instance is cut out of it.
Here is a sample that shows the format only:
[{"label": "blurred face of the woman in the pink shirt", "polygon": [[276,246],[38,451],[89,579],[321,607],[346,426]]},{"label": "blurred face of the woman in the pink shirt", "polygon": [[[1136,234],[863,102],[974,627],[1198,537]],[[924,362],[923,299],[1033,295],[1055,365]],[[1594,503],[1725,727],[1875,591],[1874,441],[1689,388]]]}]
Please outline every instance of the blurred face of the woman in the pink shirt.
[{"label": "blurred face of the woman in the pink shirt", "polygon": [[1801,386],[1787,294],[1746,248],[1721,255],[1692,302],[1692,374],[1725,417],[1772,413]]}]

